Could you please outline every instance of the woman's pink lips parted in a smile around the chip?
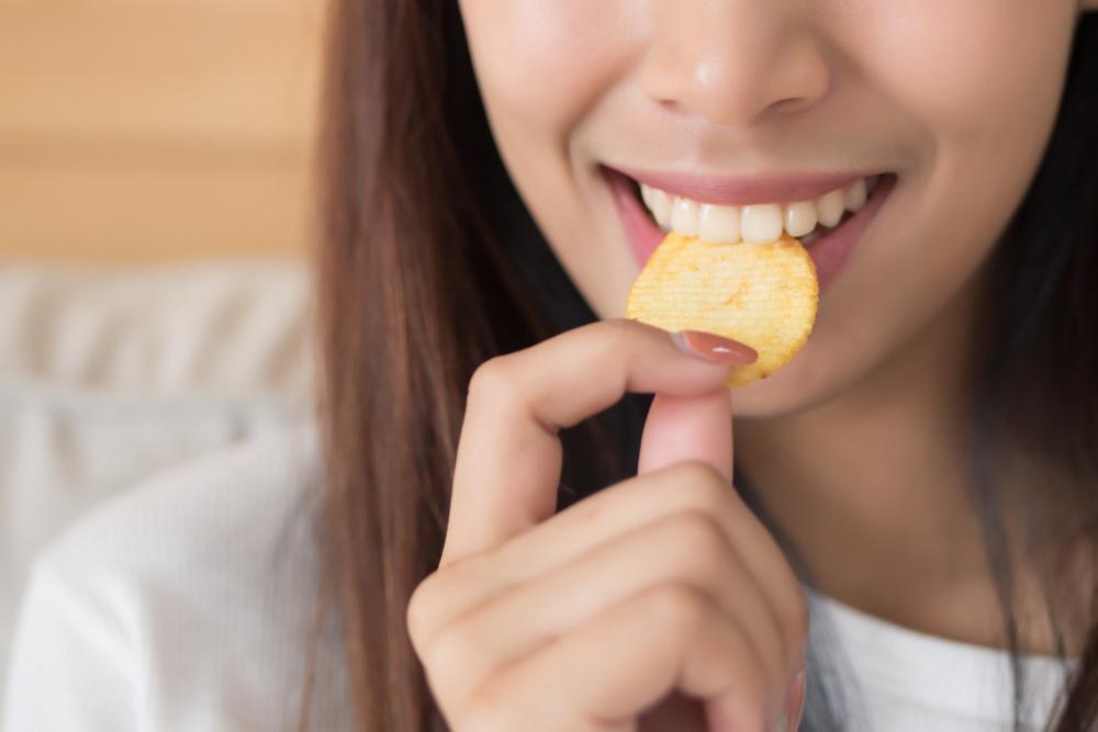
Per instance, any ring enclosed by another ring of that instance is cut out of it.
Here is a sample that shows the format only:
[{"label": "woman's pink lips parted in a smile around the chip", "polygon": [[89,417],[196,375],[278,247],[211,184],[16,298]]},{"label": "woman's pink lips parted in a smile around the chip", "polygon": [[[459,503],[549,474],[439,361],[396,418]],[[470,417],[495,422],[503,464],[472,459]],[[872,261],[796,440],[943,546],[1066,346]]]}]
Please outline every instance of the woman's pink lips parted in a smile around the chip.
[{"label": "woman's pink lips parted in a smile around the chip", "polygon": [[[614,201],[634,256],[638,263],[643,267],[666,233],[657,225],[648,209],[641,203],[639,180],[621,170],[608,167],[603,167],[603,172],[614,194]],[[763,204],[764,201],[811,200],[813,196],[821,193],[827,195],[827,191],[834,191],[844,185],[852,187],[852,181],[864,177],[863,173],[855,172],[781,179],[759,178],[755,179],[758,180],[755,185],[752,184],[751,179],[719,179],[685,173],[653,174],[636,171],[635,173],[646,183],[646,189],[649,185],[663,185],[665,188],[662,190],[669,193],[691,196],[695,201],[712,202],[718,205],[738,204],[742,205],[743,210],[749,213],[753,207],[759,210],[774,207],[774,204]],[[817,229],[819,234],[813,233],[809,237],[804,238],[808,254],[816,264],[821,294],[826,285],[839,274],[895,184],[896,176],[894,173],[881,173],[869,199],[849,218],[841,219],[833,228]],[[758,213],[768,212],[759,211]],[[833,224],[834,222],[829,223]]]}]

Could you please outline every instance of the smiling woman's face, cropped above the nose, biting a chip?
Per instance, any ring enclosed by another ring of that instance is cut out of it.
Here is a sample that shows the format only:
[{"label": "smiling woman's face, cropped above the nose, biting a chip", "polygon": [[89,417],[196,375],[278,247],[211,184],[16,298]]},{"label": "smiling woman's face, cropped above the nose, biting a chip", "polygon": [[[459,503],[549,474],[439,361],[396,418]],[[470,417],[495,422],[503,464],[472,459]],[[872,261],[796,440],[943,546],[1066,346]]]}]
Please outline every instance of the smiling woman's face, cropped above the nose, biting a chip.
[{"label": "smiling woman's face, cropped above the nose, biting a chip", "polygon": [[828,216],[843,195],[828,191],[858,209],[858,181],[889,173],[860,223],[819,241],[808,344],[737,390],[738,414],[764,416],[841,393],[970,283],[1037,169],[1074,25],[1098,0],[460,4],[503,159],[600,317],[624,316],[662,236],[629,178],[681,194],[679,226],[694,201],[729,206],[704,214],[724,217],[715,236],[737,221],[765,236],[791,210],[789,226],[810,225],[804,202]]}]

